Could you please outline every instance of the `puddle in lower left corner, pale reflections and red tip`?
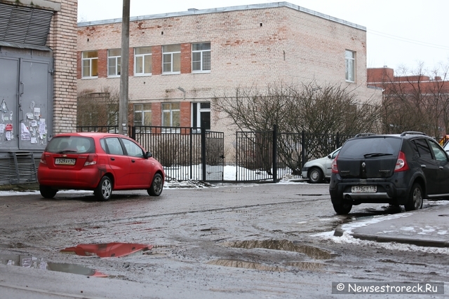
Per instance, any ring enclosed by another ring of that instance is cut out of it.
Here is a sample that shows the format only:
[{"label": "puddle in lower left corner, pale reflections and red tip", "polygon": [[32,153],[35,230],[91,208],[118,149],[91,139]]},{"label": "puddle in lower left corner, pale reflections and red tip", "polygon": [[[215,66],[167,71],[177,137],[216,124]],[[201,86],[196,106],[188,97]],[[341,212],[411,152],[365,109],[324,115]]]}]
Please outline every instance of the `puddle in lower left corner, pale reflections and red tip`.
[{"label": "puddle in lower left corner, pale reflections and red tip", "polygon": [[68,263],[51,263],[43,260],[43,258],[36,258],[34,256],[27,256],[23,254],[0,254],[0,263],[4,265],[81,274],[93,277],[107,277],[106,274],[102,274],[97,270],[81,265]]}]

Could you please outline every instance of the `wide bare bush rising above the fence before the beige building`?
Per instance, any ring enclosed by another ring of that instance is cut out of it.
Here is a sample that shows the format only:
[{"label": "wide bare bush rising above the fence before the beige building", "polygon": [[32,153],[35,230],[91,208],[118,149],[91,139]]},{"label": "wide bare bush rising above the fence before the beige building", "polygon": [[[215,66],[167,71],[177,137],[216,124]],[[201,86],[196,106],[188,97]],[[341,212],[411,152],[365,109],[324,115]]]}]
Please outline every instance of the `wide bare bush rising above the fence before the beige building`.
[{"label": "wide bare bush rising above the fence before the beige building", "polygon": [[276,124],[279,132],[355,134],[377,132],[380,123],[380,105],[374,99],[361,103],[339,85],[315,82],[236,88],[235,95],[216,97],[214,103],[240,130],[269,131]]}]

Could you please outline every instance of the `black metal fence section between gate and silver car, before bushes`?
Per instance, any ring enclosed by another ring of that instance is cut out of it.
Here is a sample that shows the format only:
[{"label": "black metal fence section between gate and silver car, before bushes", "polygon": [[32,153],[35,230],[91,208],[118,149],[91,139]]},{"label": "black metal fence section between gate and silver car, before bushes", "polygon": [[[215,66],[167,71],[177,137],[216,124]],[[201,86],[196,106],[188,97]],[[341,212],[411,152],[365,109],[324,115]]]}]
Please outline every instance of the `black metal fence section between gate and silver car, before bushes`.
[{"label": "black metal fence section between gate and silver car, before bushes", "polygon": [[236,181],[278,181],[283,176],[299,177],[305,162],[322,158],[354,135],[279,133],[236,133]]}]

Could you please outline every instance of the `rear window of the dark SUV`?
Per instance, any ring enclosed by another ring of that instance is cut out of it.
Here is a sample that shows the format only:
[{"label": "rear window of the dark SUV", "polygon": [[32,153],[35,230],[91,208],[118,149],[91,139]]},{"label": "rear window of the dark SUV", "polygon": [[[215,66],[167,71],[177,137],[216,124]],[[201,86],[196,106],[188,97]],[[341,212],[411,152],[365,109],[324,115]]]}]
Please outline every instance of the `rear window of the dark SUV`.
[{"label": "rear window of the dark SUV", "polygon": [[339,158],[366,158],[366,155],[376,154],[382,155],[398,155],[401,148],[401,139],[394,137],[379,137],[379,138],[360,138],[351,139],[344,144]]}]

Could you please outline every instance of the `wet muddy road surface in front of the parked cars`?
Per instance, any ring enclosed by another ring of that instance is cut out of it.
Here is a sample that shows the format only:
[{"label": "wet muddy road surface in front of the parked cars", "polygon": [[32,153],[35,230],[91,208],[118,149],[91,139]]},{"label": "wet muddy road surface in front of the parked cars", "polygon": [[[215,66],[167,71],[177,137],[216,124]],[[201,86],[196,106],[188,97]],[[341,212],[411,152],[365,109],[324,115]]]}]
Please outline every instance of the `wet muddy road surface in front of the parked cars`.
[{"label": "wet muddy road surface in front of the parked cars", "polygon": [[[7,287],[8,273],[36,275],[39,295],[85,288],[82,298],[330,298],[332,282],[449,281],[445,251],[332,237],[342,223],[395,213],[401,209],[365,204],[338,216],[328,185],[307,183],[116,192],[109,202],[88,192],[2,196],[0,258],[32,257],[32,265],[0,265],[0,292],[20,289]],[[108,258],[61,252],[112,242],[152,249]],[[48,263],[91,272],[46,271]],[[46,275],[67,284],[48,286]]]}]

